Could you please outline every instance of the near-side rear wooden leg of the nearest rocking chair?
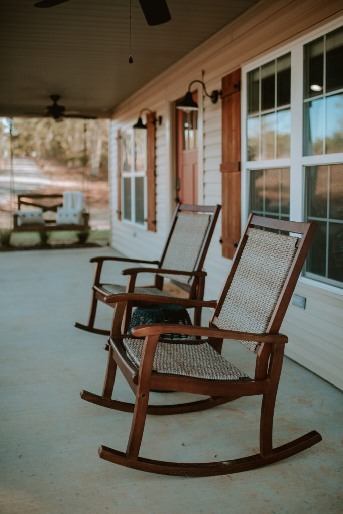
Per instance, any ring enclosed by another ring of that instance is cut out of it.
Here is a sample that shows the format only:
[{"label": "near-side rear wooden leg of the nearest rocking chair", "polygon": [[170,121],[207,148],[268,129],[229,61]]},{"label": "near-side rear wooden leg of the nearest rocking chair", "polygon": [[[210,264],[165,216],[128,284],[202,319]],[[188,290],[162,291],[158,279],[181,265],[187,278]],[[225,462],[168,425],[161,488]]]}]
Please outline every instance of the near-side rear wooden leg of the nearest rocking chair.
[{"label": "near-side rear wooden leg of the nearest rocking chair", "polygon": [[267,457],[273,454],[273,418],[276,394],[282,368],[284,345],[276,345],[270,356],[268,370],[269,387],[262,397],[260,419],[260,455]]}]

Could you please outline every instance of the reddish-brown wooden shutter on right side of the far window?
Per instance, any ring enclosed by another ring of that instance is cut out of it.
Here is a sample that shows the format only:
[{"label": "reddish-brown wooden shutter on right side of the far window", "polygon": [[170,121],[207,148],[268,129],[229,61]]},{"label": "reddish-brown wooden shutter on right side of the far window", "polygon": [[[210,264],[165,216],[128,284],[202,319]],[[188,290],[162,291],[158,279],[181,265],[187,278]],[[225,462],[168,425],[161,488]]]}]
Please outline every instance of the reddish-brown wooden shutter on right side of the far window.
[{"label": "reddish-brown wooden shutter on right side of the far window", "polygon": [[147,202],[148,230],[156,232],[156,171],[155,171],[155,136],[156,113],[147,116]]}]

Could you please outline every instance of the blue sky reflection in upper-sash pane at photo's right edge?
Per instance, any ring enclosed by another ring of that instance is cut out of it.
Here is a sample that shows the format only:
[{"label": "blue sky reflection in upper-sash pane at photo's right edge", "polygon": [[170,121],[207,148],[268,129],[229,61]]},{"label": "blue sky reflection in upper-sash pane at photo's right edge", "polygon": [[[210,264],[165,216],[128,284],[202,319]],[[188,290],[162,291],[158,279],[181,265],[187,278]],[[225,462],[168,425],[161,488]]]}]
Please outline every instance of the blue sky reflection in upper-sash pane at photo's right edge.
[{"label": "blue sky reflection in upper-sash pane at photo's right edge", "polygon": [[326,118],[326,153],[343,152],[343,94],[326,98]]}]

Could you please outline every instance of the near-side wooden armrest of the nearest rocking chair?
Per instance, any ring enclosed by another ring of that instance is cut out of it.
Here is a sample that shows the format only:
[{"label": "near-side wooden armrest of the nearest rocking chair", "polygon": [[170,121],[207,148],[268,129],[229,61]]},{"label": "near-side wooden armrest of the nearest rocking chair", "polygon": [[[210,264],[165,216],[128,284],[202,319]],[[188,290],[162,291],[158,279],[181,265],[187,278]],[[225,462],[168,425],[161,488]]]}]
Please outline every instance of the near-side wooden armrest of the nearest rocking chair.
[{"label": "near-side wooden armrest of the nearest rocking chair", "polygon": [[220,328],[204,326],[154,323],[133,327],[131,333],[135,337],[156,336],[158,334],[183,334],[189,336],[203,336],[216,339],[238,339],[240,341],[256,341],[257,343],[287,343],[288,338],[283,334],[253,334],[250,332],[226,331]]}]

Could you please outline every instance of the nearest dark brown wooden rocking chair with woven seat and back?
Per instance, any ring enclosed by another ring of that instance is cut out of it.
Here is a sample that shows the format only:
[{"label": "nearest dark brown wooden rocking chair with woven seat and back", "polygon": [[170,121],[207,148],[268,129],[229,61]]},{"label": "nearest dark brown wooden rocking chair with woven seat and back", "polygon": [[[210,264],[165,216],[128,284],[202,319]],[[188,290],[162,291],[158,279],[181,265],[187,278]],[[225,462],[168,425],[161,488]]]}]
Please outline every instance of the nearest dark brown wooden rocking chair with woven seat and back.
[{"label": "nearest dark brown wooden rocking chair with woven seat and back", "polygon": [[[261,227],[296,233],[299,237],[260,230]],[[185,307],[214,307],[208,328],[142,325],[133,329],[133,335],[120,335],[125,303],[137,295],[114,295],[106,299],[115,305],[115,313],[102,396],[82,391],[81,397],[104,407],[133,412],[133,421],[126,452],[100,446],[101,458],[153,473],[209,476],[272,464],[321,440],[320,434],[312,431],[273,448],[275,398],[287,342],[279,329],[315,230],[313,222],[287,222],[250,214],[218,302],[174,300]],[[170,299],[160,297],[158,301],[170,302]],[[165,332],[198,339],[171,343],[160,339],[160,334]],[[206,339],[200,340],[201,337]],[[239,340],[255,352],[254,379],[222,357],[223,339]],[[117,366],[135,393],[134,404],[112,399]],[[149,392],[154,389],[186,391],[208,398],[177,405],[149,405]],[[258,454],[211,463],[173,463],[138,456],[147,414],[200,411],[246,395],[262,395]]]}]

